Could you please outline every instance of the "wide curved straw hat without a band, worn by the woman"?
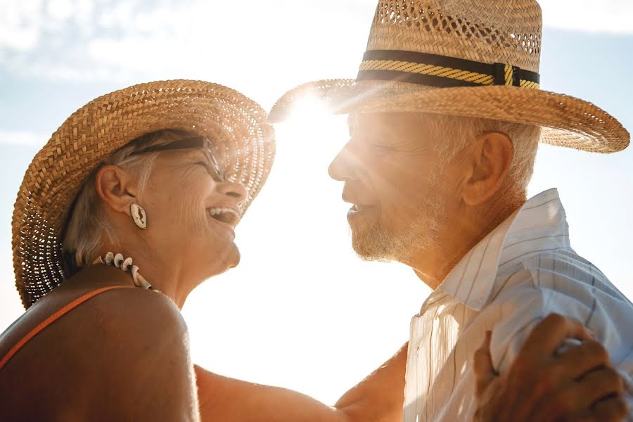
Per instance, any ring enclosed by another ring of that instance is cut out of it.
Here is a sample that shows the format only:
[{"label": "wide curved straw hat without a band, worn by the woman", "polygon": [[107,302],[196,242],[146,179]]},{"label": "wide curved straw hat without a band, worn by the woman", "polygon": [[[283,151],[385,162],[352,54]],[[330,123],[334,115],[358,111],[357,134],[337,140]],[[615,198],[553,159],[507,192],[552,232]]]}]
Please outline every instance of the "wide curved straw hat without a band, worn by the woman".
[{"label": "wide curved straw hat without a band, worn by the woman", "polygon": [[243,211],[268,177],[274,130],[266,112],[233,89],[172,80],[134,85],[90,101],[35,155],[15,201],[13,268],[26,308],[65,278],[60,236],[90,172],[129,141],[160,129],[211,139],[224,153],[226,177],[248,191]]}]

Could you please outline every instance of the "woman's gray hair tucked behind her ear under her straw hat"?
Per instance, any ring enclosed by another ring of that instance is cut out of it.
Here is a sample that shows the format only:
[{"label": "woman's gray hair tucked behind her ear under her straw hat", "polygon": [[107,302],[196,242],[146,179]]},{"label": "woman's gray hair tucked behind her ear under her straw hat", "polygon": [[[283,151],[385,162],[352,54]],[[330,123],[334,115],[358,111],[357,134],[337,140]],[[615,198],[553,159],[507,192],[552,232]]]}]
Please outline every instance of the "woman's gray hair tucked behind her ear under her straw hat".
[{"label": "woman's gray hair tucked behind her ear under her straw hat", "polygon": [[[79,190],[75,206],[70,210],[70,219],[63,235],[62,250],[70,260],[74,269],[86,267],[94,260],[98,249],[103,243],[102,233],[108,236],[110,243],[116,245],[118,239],[112,224],[108,221],[95,190],[95,177],[104,165],[115,165],[123,170],[132,172],[139,178],[139,197],[142,198],[153,164],[160,152],[134,155],[137,151],[151,146],[163,146],[167,143],[180,141],[193,134],[179,129],[164,129],[151,132],[127,143],[115,151],[110,157],[91,172],[84,185]],[[72,274],[67,274],[71,276]]]}]

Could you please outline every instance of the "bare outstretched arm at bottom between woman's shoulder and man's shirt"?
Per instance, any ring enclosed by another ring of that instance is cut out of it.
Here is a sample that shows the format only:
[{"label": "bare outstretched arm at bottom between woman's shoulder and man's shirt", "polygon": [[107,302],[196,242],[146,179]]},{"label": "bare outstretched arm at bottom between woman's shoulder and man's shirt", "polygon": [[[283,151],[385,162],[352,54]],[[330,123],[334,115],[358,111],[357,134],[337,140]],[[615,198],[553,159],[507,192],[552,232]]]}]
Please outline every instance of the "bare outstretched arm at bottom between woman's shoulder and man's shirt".
[{"label": "bare outstretched arm at bottom between woman's shoulder and man's shirt", "polygon": [[400,422],[407,345],[333,406],[284,388],[219,376],[195,366],[200,416],[236,422]]}]

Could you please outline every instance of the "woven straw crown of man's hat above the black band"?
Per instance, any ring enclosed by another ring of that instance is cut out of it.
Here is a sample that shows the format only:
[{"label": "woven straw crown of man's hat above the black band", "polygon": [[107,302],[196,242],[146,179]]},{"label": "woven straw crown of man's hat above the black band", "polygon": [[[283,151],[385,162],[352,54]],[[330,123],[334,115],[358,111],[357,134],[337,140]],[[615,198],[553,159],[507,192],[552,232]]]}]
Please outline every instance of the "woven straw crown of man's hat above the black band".
[{"label": "woven straw crown of man's hat above the black band", "polygon": [[535,0],[381,0],[367,50],[403,50],[539,72]]}]

